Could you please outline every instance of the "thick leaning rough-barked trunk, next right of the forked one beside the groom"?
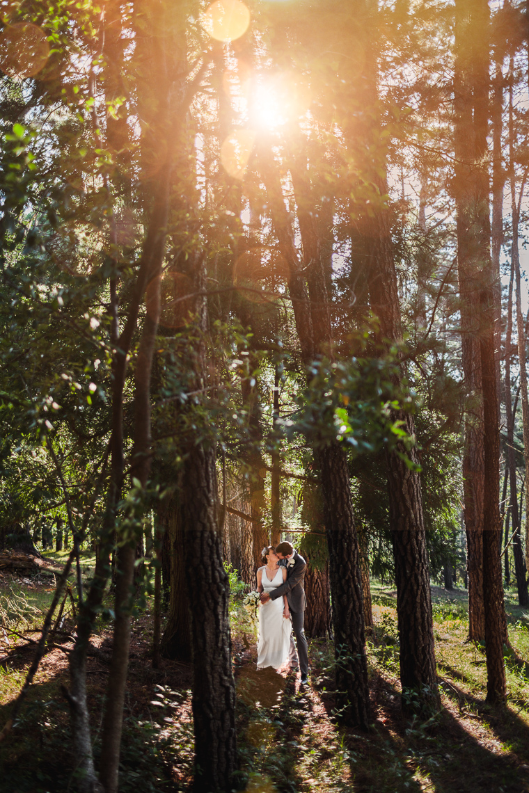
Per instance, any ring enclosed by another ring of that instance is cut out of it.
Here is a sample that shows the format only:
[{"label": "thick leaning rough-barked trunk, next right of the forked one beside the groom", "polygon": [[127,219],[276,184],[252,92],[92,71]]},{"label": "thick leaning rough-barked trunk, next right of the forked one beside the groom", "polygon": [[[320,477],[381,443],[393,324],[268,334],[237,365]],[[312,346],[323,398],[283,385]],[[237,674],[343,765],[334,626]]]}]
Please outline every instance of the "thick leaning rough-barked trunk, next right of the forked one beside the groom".
[{"label": "thick leaning rough-barked trunk, next right of the forked one beside the groom", "polygon": [[[351,13],[365,20],[365,50],[362,75],[351,86],[362,113],[346,129],[347,145],[358,167],[358,190],[374,186],[376,200],[370,206],[358,199],[351,217],[358,226],[359,247],[365,257],[370,307],[378,318],[377,341],[382,346],[402,339],[401,305],[397,289],[391,218],[386,205],[387,151],[383,143],[378,108],[378,5],[375,0],[358,0]],[[395,413],[410,435],[415,434],[412,416]],[[400,450],[404,451],[403,449]],[[416,452],[409,454],[417,462]],[[397,454],[386,455],[388,466],[389,520],[397,583],[397,610],[401,642],[402,705],[408,710],[406,689],[417,695],[424,711],[439,707],[435,672],[434,635],[431,615],[430,580],[420,474],[408,468]],[[415,698],[415,697],[414,697]]]}]

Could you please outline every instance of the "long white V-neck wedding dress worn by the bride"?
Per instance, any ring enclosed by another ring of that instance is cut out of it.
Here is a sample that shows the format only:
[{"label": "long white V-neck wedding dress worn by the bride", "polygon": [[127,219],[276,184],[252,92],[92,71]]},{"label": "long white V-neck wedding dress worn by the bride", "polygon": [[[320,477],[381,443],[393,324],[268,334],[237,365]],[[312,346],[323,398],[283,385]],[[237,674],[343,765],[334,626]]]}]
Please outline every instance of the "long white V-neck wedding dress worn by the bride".
[{"label": "long white V-neck wedding dress worn by the bride", "polygon": [[[275,588],[283,583],[282,568],[278,568],[273,580],[269,580],[266,575],[266,567],[263,567],[261,584],[265,592],[273,592]],[[259,606],[259,642],[257,643],[257,668],[264,669],[266,666],[274,666],[278,669],[282,666],[289,655],[290,634],[292,623],[283,617],[285,601],[282,597],[276,600],[269,600]]]}]

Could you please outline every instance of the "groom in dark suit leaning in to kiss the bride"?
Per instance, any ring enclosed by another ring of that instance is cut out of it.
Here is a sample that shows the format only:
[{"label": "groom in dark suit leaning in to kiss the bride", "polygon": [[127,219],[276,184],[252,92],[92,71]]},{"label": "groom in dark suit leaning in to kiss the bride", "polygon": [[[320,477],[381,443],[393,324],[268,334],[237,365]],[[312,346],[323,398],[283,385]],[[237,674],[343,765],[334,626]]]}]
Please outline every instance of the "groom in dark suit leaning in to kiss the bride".
[{"label": "groom in dark suit leaning in to kiss the bride", "polygon": [[286,560],[286,581],[280,587],[274,589],[273,592],[263,592],[261,594],[261,603],[266,603],[268,600],[276,600],[278,597],[286,595],[290,615],[292,616],[292,629],[297,642],[296,652],[293,635],[290,634],[289,665],[291,670],[297,668],[297,654],[299,653],[301,683],[305,684],[309,682],[309,652],[305,631],[303,630],[305,607],[307,605],[303,579],[305,578],[307,564],[305,559],[294,550],[291,542],[280,542],[275,552],[280,560]]}]

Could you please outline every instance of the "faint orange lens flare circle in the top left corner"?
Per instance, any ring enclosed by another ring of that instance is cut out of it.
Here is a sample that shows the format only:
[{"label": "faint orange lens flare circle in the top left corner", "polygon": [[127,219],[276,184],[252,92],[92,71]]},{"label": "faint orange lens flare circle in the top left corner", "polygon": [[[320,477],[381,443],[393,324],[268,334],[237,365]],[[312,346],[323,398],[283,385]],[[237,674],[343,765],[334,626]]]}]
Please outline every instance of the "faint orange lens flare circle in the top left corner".
[{"label": "faint orange lens flare circle in the top left corner", "polygon": [[49,52],[46,34],[31,22],[6,25],[0,33],[0,69],[12,79],[38,75]]}]

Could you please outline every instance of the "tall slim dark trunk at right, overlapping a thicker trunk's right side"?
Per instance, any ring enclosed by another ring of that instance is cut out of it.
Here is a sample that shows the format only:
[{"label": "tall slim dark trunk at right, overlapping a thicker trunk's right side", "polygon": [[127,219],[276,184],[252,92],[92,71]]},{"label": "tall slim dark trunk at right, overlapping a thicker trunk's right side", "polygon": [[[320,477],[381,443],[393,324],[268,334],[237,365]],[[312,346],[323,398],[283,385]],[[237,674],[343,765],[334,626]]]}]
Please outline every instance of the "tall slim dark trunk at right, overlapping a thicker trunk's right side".
[{"label": "tall slim dark trunk at right, overlapping a thicker trunk's right side", "polygon": [[[470,6],[470,7],[469,7]],[[471,62],[460,65],[472,90],[473,204],[467,245],[472,246],[472,266],[479,288],[479,350],[481,364],[481,404],[484,432],[483,500],[483,601],[485,611],[485,651],[487,657],[487,699],[503,701],[506,696],[504,641],[507,638],[499,549],[500,534],[500,427],[495,354],[495,274],[490,255],[489,168],[489,48],[488,0],[456,0],[459,25],[466,21],[471,46]],[[461,57],[461,49],[458,57]],[[467,211],[468,211],[467,207]],[[470,218],[469,218],[470,219]],[[459,244],[459,233],[458,233]]]}]

